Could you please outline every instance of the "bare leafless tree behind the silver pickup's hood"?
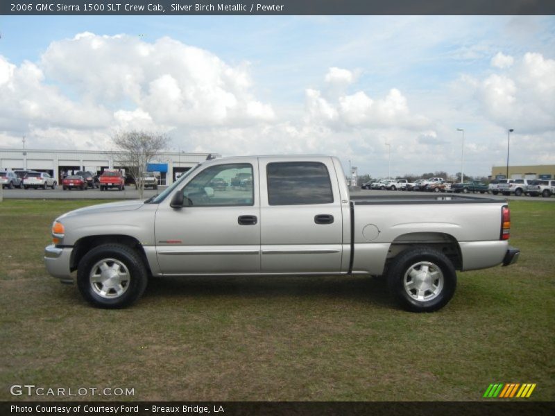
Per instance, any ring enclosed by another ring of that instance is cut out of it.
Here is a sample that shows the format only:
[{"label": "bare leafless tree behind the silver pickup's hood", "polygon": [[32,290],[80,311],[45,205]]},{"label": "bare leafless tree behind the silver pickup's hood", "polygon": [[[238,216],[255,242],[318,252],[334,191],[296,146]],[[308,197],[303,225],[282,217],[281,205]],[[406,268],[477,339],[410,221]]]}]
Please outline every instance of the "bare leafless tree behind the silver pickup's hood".
[{"label": "bare leafless tree behind the silver pickup's hood", "polygon": [[128,168],[139,189],[139,198],[142,199],[146,167],[168,145],[169,137],[161,133],[130,130],[117,132],[112,139],[122,150],[119,162]]}]

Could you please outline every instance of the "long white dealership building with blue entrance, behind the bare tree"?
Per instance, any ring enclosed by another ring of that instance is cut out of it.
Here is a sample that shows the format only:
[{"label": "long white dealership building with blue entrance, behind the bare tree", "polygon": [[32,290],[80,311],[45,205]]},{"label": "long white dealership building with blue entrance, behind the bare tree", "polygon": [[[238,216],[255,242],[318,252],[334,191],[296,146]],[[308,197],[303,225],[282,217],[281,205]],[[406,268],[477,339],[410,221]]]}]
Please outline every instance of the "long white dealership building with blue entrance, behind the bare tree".
[{"label": "long white dealership building with blue entrance, behind the bare tree", "polygon": [[[0,148],[0,171],[26,169],[46,172],[56,178],[65,173],[71,175],[76,171],[101,173],[105,169],[121,169],[126,166],[120,162],[123,152],[93,150],[35,150]],[[160,176],[160,184],[169,185],[183,172],[188,171],[199,162],[220,157],[217,153],[163,152],[148,164],[147,171]]]}]

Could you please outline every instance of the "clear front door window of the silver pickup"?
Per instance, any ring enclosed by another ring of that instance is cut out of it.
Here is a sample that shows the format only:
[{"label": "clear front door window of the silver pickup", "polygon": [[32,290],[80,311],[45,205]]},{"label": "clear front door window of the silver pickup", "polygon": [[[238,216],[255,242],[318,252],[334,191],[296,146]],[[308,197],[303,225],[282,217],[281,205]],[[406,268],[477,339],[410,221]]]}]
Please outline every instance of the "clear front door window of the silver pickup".
[{"label": "clear front door window of the silver pickup", "polygon": [[253,165],[210,166],[200,171],[182,191],[192,207],[254,205]]}]

